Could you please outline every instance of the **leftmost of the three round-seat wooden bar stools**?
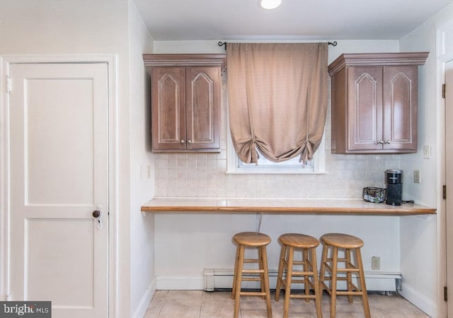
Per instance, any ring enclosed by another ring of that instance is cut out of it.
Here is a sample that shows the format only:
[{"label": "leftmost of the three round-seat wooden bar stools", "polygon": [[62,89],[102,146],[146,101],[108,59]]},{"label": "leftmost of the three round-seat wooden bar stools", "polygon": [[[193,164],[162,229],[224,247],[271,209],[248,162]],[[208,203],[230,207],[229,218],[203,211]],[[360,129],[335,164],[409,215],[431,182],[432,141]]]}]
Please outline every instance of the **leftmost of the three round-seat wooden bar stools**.
[{"label": "leftmost of the three round-seat wooden bar stools", "polygon": [[[268,273],[268,254],[266,246],[270,243],[270,237],[260,232],[241,232],[233,236],[236,243],[236,261],[234,262],[233,293],[234,299],[234,318],[239,315],[239,302],[241,296],[260,296],[266,301],[268,318],[272,318],[270,307],[270,288]],[[256,247],[258,249],[258,259],[244,259],[246,248]],[[244,263],[258,263],[258,269],[244,269]],[[243,277],[244,274],[259,274],[259,277]],[[243,281],[259,281],[261,291],[241,291]]]}]

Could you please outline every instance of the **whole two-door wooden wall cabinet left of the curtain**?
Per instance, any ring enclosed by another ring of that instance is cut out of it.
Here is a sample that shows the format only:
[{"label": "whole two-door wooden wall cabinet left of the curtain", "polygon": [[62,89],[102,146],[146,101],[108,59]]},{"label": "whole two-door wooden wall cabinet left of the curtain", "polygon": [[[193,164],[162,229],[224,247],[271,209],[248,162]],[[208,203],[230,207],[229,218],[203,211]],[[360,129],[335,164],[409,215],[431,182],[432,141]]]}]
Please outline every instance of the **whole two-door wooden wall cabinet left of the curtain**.
[{"label": "whole two-door wooden wall cabinet left of the curtain", "polygon": [[154,152],[220,151],[224,54],[144,54]]}]

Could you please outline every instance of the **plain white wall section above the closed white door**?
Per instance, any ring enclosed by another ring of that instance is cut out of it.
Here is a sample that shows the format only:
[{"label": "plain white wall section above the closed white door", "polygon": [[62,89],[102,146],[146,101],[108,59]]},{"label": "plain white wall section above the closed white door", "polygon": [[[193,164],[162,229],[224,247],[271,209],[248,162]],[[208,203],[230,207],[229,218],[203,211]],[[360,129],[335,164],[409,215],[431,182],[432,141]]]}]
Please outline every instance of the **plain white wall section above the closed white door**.
[{"label": "plain white wall section above the closed white door", "polygon": [[2,0],[0,17],[1,54],[127,54],[125,0]]}]

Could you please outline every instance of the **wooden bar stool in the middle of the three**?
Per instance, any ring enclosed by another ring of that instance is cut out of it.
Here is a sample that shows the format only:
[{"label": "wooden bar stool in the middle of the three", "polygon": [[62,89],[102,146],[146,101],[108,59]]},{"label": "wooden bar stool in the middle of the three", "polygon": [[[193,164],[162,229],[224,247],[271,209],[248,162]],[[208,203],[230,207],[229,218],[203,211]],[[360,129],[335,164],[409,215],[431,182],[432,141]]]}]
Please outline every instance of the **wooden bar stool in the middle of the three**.
[{"label": "wooden bar stool in the middle of the three", "polygon": [[[316,247],[319,240],[309,235],[288,233],[280,235],[278,242],[282,245],[280,252],[280,262],[278,265],[277,285],[275,288],[275,301],[280,298],[280,288],[285,289],[285,306],[283,307],[283,317],[287,318],[289,313],[289,298],[302,298],[307,302],[314,299],[316,303],[316,314],[322,317],[321,298],[318,266],[316,265]],[[294,261],[294,249],[302,249],[302,261]],[[302,271],[294,271],[295,265],[302,265]],[[286,279],[283,279],[283,272],[286,271]],[[294,279],[298,277],[300,279]],[[310,281],[313,279],[313,282]],[[292,294],[291,284],[304,284],[305,294]],[[310,288],[314,290],[314,295],[310,294]]]}]

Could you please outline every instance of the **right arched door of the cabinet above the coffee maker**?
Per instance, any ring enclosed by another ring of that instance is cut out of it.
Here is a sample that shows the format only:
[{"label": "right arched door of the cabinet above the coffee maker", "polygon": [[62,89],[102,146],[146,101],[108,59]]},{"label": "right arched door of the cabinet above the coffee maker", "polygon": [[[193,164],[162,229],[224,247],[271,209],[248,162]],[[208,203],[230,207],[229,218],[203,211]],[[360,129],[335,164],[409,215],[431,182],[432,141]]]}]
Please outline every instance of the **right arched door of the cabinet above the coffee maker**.
[{"label": "right arched door of the cabinet above the coffee maker", "polygon": [[416,66],[384,67],[384,149],[417,149]]}]

